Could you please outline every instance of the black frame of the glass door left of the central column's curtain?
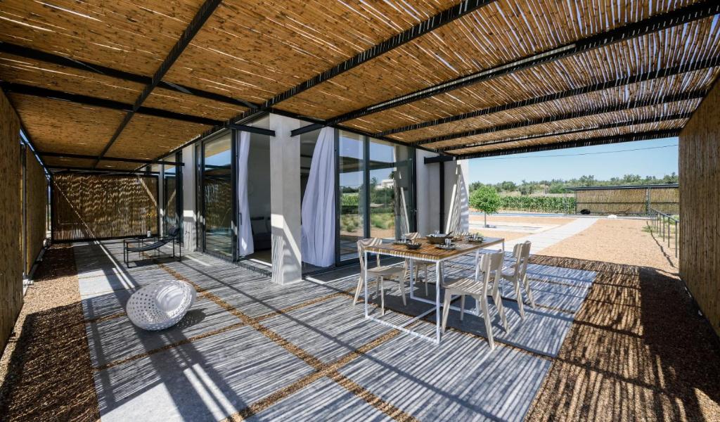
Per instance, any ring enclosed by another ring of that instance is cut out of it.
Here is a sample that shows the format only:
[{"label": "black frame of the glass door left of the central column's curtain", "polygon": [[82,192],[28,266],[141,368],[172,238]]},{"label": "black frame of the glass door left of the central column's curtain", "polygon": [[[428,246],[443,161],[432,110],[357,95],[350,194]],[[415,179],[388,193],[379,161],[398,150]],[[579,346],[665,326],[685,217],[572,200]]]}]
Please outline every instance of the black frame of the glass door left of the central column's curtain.
[{"label": "black frame of the glass door left of the central column's curtain", "polygon": [[215,141],[219,138],[222,138],[222,136],[227,135],[228,132],[222,131],[220,133],[214,134],[206,139],[203,139],[199,142],[200,148],[200,157],[199,157],[199,165],[197,166],[198,174],[197,179],[197,189],[199,191],[199,194],[197,195],[197,199],[199,199],[200,203],[197,205],[198,210],[198,230],[199,230],[199,236],[198,236],[198,248],[202,253],[207,253],[208,255],[215,256],[220,259],[224,259],[225,261],[238,261],[238,139],[240,138],[239,131],[235,129],[230,129],[230,189],[232,189],[232,192],[230,194],[230,234],[231,234],[231,242],[232,242],[232,253],[230,256],[225,255],[223,253],[219,253],[216,251],[209,251],[207,250],[207,245],[205,241],[205,145],[207,143],[210,143],[212,141]]}]

